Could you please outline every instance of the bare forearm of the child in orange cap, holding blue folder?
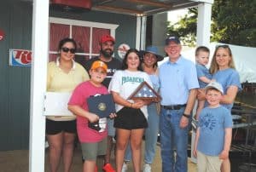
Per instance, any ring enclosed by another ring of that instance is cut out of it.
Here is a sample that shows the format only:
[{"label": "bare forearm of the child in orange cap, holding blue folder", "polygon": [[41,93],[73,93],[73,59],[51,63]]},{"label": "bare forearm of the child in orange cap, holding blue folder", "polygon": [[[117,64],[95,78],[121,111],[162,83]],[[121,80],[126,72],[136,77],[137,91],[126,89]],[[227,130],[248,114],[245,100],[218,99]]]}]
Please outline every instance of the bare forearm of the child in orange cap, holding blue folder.
[{"label": "bare forearm of the child in orange cap, holding blue folder", "polygon": [[75,115],[79,115],[81,117],[87,118],[90,123],[95,123],[99,120],[99,116],[97,116],[95,113],[91,113],[88,111],[85,111],[82,107],[76,106],[76,105],[68,105],[68,110],[73,112]]}]

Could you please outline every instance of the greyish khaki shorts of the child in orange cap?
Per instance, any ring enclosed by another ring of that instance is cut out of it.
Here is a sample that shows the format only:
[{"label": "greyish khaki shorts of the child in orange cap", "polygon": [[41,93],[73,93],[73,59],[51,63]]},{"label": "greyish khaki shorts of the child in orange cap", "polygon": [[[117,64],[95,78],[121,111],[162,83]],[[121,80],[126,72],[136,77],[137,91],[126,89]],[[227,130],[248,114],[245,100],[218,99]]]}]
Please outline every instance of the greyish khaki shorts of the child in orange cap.
[{"label": "greyish khaki shorts of the child in orange cap", "polygon": [[83,159],[96,161],[97,156],[106,155],[107,137],[95,143],[81,143]]}]

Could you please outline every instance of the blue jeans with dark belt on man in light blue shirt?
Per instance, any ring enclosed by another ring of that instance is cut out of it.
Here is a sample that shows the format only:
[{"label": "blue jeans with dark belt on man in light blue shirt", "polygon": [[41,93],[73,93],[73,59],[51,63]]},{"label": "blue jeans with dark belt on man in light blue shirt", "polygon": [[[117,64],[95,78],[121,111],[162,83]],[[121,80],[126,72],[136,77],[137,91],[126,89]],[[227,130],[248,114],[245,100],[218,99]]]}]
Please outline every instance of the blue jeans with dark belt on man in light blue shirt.
[{"label": "blue jeans with dark belt on man in light blue shirt", "polygon": [[[183,116],[184,107],[179,110],[160,111],[160,144],[162,172],[188,171],[188,133],[189,126],[180,129],[179,122]],[[176,158],[174,158],[176,150]]]}]

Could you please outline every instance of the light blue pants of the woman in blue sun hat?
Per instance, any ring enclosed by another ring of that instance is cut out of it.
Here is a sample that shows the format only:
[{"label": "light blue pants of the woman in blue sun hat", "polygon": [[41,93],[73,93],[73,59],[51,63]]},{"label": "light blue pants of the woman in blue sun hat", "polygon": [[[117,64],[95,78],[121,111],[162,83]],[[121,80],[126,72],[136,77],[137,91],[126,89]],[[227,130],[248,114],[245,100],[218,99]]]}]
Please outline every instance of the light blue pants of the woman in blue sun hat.
[{"label": "light blue pants of the woman in blue sun hat", "polygon": [[[148,106],[148,128],[145,129],[145,163],[153,163],[155,155],[155,146],[157,142],[157,135],[159,132],[160,116],[156,111],[156,104],[152,103]],[[125,161],[131,160],[131,146],[127,146],[125,151]]]}]

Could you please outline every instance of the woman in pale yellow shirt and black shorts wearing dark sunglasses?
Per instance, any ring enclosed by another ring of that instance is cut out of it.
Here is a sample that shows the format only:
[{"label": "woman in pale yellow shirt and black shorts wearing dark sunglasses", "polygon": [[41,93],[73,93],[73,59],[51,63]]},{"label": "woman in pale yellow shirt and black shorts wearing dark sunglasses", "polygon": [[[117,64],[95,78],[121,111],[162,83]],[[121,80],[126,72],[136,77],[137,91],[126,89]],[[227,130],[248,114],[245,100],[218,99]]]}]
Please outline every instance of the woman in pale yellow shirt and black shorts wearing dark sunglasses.
[{"label": "woman in pale yellow shirt and black shorts wearing dark sunglasses", "polygon": [[[48,64],[47,91],[72,92],[79,83],[89,80],[84,67],[73,60],[76,49],[77,45],[72,38],[64,38],[60,41],[59,56]],[[61,117],[47,117],[46,136],[49,143],[50,171],[58,170],[61,155],[64,164],[63,171],[70,171],[76,136],[75,116],[63,114]]]}]

